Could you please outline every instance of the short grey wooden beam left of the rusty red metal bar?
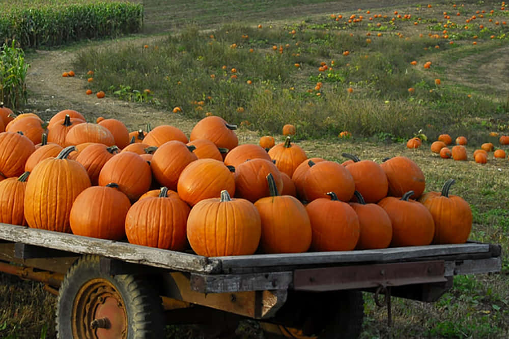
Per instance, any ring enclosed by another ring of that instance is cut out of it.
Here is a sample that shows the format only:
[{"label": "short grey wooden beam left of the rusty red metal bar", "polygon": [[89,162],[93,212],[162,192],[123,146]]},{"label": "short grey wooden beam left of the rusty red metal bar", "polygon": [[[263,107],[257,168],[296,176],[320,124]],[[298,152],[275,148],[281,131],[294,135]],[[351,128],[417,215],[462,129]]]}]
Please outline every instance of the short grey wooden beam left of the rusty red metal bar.
[{"label": "short grey wooden beam left of the rusty red metal bar", "polygon": [[191,289],[202,293],[286,290],[292,281],[292,272],[258,274],[191,273]]}]

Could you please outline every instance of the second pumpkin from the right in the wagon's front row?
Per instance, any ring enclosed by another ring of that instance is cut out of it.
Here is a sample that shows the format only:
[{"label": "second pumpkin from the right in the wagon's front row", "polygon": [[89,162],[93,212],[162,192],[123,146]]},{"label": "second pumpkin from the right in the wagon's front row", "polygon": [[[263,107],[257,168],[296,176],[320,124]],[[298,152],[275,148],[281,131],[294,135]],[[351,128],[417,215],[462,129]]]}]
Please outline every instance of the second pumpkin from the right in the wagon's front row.
[{"label": "second pumpkin from the right in the wagon's front row", "polygon": [[433,217],[423,204],[410,200],[413,191],[403,197],[386,197],[378,202],[392,224],[392,247],[429,245],[435,234]]}]

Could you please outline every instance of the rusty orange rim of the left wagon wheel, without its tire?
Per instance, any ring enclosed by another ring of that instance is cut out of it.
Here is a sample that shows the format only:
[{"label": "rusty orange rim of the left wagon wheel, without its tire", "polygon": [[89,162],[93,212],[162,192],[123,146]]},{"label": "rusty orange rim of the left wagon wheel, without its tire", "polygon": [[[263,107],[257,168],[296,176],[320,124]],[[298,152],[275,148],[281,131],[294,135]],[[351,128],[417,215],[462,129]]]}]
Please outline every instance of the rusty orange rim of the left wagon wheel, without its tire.
[{"label": "rusty orange rim of the left wagon wheel, without its tire", "polygon": [[96,278],[76,293],[72,309],[75,338],[127,338],[127,312],[124,299],[109,281]]}]

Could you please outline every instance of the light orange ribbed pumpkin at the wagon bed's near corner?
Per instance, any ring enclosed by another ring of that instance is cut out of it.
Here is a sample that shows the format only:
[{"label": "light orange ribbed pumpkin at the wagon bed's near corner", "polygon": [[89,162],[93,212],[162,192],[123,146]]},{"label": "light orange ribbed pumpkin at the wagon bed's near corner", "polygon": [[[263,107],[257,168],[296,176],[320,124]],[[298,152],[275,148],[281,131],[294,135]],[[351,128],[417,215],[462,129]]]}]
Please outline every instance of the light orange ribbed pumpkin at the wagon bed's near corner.
[{"label": "light orange ribbed pumpkin at the wagon bed's near corner", "polygon": [[253,254],[260,242],[260,213],[228,191],[198,202],[187,218],[187,239],[197,255],[221,257]]}]

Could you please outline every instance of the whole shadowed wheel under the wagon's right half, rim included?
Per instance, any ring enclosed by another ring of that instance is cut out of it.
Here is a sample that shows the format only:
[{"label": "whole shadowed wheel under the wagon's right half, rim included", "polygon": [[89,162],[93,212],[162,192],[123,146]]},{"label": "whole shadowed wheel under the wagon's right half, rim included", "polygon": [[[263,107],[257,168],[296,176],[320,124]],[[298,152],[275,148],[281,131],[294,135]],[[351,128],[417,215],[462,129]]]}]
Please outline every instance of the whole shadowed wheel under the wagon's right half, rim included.
[{"label": "whole shadowed wheel under the wagon's right half, rim included", "polygon": [[[300,298],[297,298],[300,299]],[[280,312],[295,312],[296,302],[285,304]],[[305,294],[298,306],[299,327],[261,323],[266,338],[354,339],[360,335],[364,301],[360,291]],[[277,319],[278,315],[276,315]]]}]

